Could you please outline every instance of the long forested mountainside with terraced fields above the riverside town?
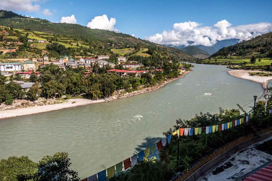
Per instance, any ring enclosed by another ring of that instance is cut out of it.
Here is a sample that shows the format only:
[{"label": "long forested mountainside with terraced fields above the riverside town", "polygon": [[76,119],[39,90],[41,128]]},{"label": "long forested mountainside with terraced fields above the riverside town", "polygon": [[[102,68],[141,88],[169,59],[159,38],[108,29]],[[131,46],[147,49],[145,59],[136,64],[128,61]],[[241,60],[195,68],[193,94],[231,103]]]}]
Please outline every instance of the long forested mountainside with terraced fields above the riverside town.
[{"label": "long forested mountainside with terraced fields above the riverside town", "polygon": [[[66,43],[66,45],[73,41],[75,44],[78,43],[78,48],[88,48],[91,56],[99,54],[110,55],[112,54],[111,49],[130,47],[136,50],[138,48],[153,47],[154,52],[161,57],[171,58],[174,56],[181,60],[195,59],[178,49],[161,46],[128,34],[109,30],[90,29],[79,24],[52,23],[45,19],[25,17],[12,11],[0,10],[0,26],[11,27],[10,29],[15,31],[14,35],[18,37],[28,34],[28,38],[38,37],[50,42]],[[71,43],[70,48],[75,48],[75,44],[73,43]]]}]

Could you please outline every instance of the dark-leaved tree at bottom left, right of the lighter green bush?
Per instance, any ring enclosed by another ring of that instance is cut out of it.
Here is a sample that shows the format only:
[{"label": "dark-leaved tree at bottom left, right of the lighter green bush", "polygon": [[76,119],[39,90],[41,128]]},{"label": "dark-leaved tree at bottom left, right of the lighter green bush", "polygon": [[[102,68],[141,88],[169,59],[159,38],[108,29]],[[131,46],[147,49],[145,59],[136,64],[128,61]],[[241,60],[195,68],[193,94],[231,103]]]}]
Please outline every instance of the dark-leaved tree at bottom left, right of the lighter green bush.
[{"label": "dark-leaved tree at bottom left, right of the lighter green bush", "polygon": [[34,174],[33,180],[79,181],[78,173],[71,170],[70,166],[70,158],[66,152],[47,155],[39,161],[38,172]]}]

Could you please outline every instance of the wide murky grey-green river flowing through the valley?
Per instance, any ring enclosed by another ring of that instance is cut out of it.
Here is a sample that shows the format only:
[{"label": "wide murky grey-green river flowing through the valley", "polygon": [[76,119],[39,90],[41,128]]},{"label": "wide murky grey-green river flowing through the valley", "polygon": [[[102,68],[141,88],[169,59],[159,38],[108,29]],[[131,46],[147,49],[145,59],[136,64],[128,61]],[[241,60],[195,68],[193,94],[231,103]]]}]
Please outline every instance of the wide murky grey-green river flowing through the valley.
[{"label": "wide murky grey-green river flowing through the valley", "polygon": [[153,145],[178,118],[238,108],[262,95],[261,84],[230,76],[224,65],[194,65],[184,78],[149,93],[0,120],[0,159],[28,155],[38,162],[66,151],[83,179]]}]

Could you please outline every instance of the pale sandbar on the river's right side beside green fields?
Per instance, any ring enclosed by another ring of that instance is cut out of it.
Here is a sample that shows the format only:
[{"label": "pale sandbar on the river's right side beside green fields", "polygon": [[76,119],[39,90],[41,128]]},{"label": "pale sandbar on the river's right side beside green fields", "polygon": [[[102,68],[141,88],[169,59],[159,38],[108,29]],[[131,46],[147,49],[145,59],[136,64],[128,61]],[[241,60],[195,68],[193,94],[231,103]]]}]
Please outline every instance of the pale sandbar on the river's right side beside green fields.
[{"label": "pale sandbar on the river's right side beside green fields", "polygon": [[263,88],[266,87],[268,80],[272,79],[272,76],[269,77],[262,77],[262,76],[251,76],[249,73],[251,72],[262,72],[262,71],[256,71],[256,70],[230,70],[227,71],[231,76],[238,77],[241,79],[247,79],[247,80],[252,80],[254,82],[261,83]]}]

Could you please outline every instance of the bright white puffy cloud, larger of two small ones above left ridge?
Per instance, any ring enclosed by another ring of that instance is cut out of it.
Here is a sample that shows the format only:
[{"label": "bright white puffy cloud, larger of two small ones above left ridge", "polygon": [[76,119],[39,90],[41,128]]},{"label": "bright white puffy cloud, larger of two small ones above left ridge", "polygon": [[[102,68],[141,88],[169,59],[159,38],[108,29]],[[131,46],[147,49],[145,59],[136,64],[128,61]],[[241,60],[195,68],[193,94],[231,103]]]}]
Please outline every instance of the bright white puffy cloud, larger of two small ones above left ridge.
[{"label": "bright white puffy cloud, larger of two small ones above left ridge", "polygon": [[114,30],[118,31],[116,28],[114,28],[114,25],[116,24],[115,18],[109,18],[106,14],[103,14],[102,16],[96,16],[92,19],[91,22],[87,23],[87,27],[91,29],[103,29],[103,30]]}]

